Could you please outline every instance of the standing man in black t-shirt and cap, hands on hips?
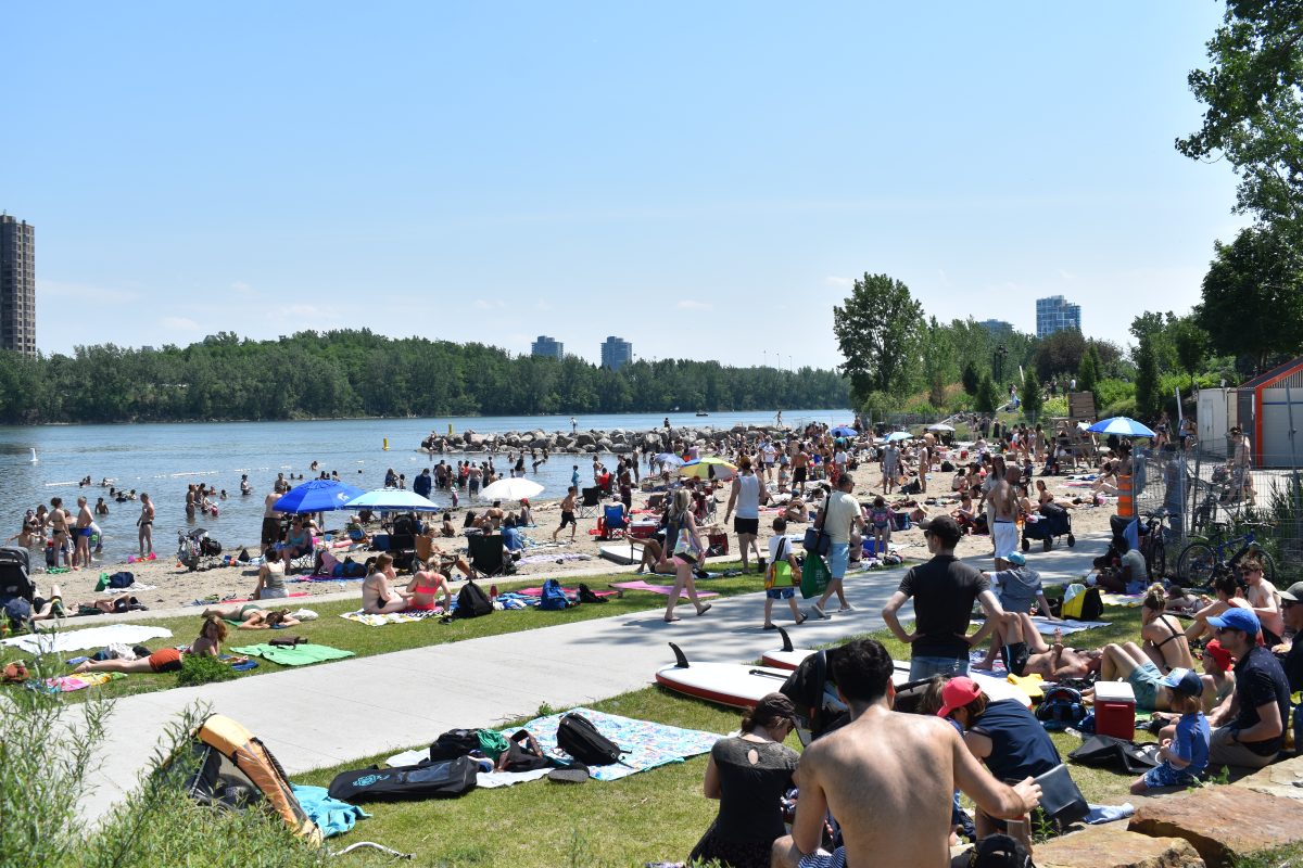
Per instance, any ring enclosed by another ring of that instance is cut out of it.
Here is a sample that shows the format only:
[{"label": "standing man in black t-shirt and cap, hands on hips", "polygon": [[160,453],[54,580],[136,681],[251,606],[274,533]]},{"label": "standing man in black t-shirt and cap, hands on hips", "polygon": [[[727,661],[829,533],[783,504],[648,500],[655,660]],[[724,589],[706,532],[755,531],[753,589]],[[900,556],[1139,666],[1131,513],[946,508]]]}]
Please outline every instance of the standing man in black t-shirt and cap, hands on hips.
[{"label": "standing man in black t-shirt and cap, hands on hips", "polygon": [[[896,639],[909,645],[909,681],[967,675],[969,651],[997,627],[1005,610],[990,590],[990,579],[955,557],[963,536],[955,519],[938,515],[920,527],[933,557],[904,574],[882,609],[882,621]],[[896,613],[911,599],[915,625],[913,632],[906,632]],[[986,621],[969,636],[973,600],[981,604]]]}]

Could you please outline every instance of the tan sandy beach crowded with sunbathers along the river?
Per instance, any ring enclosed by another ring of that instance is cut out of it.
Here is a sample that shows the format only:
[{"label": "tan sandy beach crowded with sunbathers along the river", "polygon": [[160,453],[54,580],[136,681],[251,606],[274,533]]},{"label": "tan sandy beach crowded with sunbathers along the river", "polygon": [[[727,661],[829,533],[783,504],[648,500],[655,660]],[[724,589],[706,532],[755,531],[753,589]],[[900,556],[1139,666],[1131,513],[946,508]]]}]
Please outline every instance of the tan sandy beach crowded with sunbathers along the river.
[{"label": "tan sandy beach crowded with sunbathers along the river", "polygon": [[[860,501],[872,501],[874,495],[881,493],[880,479],[881,470],[877,463],[861,463],[860,467],[852,471],[855,478],[855,496]],[[920,502],[924,498],[936,497],[936,505],[926,505],[924,509],[929,515],[937,515],[943,511],[954,509],[958,504],[958,498],[951,495],[950,485],[954,474],[934,471],[928,478],[928,493],[919,495],[917,500]],[[1045,478],[1046,484],[1055,497],[1061,500],[1070,500],[1072,497],[1085,498],[1085,493],[1089,489],[1080,487],[1068,487],[1067,479],[1062,476],[1048,476]],[[635,492],[633,508],[635,510],[646,508],[649,500],[649,492]],[[717,522],[714,524],[702,526],[702,532],[722,531],[723,527],[723,514],[724,508],[728,501],[728,487],[721,483],[715,491],[717,501]],[[891,498],[889,498],[890,502]],[[814,501],[817,505],[817,500]],[[472,504],[472,508],[482,508],[487,504]],[[465,514],[465,501],[463,509],[455,511],[453,522],[460,526],[461,518]],[[767,540],[773,531],[770,524],[774,515],[778,514],[777,509],[769,508],[762,510],[760,521],[760,545],[761,552],[767,550]],[[1109,531],[1109,518],[1115,514],[1115,508],[1111,501],[1105,506],[1080,506],[1070,511],[1072,519],[1072,531],[1076,536],[1088,536],[1092,534],[1106,534]],[[579,519],[579,532],[575,536],[575,541],[569,541],[568,530],[559,535],[558,545],[547,545],[551,539],[552,530],[558,526],[560,518],[560,502],[559,501],[539,501],[534,504],[534,518],[537,527],[526,528],[526,536],[534,541],[545,545],[537,548],[529,548],[523,553],[523,562],[517,567],[517,573],[513,578],[534,578],[537,576],[541,582],[543,578],[552,575],[566,575],[567,573],[575,571],[576,569],[582,569],[584,571],[592,571],[594,567],[609,567],[611,573],[631,573],[633,566],[620,566],[610,561],[599,558],[598,547],[602,544],[594,532],[597,528],[597,518],[581,518]],[[327,513],[326,524],[328,528],[337,528],[344,524],[347,519],[347,513]],[[731,522],[730,522],[731,524]],[[788,532],[803,534],[808,524],[792,522],[788,526]],[[727,528],[730,537],[730,557],[737,557],[737,539],[732,532],[732,527]],[[241,548],[248,548],[251,553],[257,553],[257,535],[258,528],[246,528],[246,532],[240,535],[240,541],[232,544],[224,543],[224,553],[237,553]],[[439,544],[448,548],[452,545],[464,545],[464,539],[443,539]],[[923,532],[917,527],[908,531],[896,531],[893,534],[891,543],[899,547],[900,554],[906,558],[925,558],[926,548],[923,539]],[[1066,544],[1063,540],[1058,540],[1055,545]],[[1029,562],[1035,566],[1035,554],[1040,550],[1040,543],[1033,541],[1031,549]],[[990,553],[990,537],[989,536],[966,536],[958,548],[958,554],[960,557],[969,556],[982,556]],[[371,556],[362,547],[354,547],[353,550],[348,552],[356,561],[365,561]],[[585,556],[581,558],[575,558],[573,556]],[[339,554],[341,558],[345,554],[341,552]],[[560,558],[562,563],[558,563],[555,558]],[[35,566],[35,563],[34,563]],[[95,584],[99,580],[100,573],[113,574],[119,570],[129,570],[136,575],[137,586],[154,586],[152,590],[142,590],[137,587],[132,591],[134,596],[146,606],[155,609],[171,609],[185,606],[195,600],[210,599],[214,595],[219,600],[248,597],[254,586],[257,584],[257,567],[249,566],[219,566],[210,570],[202,571],[189,571],[181,566],[175,557],[172,547],[158,552],[158,560],[150,562],[99,562],[95,569],[79,570],[72,573],[60,574],[46,574],[36,573],[34,576],[40,593],[50,591],[51,583],[56,583],[63,592],[65,603],[76,606],[77,603],[93,600],[96,597],[108,596],[108,592],[96,593]],[[298,576],[292,576],[298,578]],[[455,582],[460,580],[460,574],[452,576]],[[318,595],[330,593],[351,587],[358,587],[360,583],[341,583],[341,582],[293,582],[289,584],[289,591],[293,595]],[[74,622],[77,619],[73,619]]]}]

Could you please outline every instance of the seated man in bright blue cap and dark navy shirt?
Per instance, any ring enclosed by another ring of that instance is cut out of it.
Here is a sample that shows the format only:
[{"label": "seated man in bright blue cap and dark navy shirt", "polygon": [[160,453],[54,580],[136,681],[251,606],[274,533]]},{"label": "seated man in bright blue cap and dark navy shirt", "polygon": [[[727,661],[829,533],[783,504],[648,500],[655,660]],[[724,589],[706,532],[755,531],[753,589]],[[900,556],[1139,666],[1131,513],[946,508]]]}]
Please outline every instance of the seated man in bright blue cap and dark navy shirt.
[{"label": "seated man in bright blue cap and dark navy shirt", "polygon": [[1208,618],[1208,626],[1237,661],[1235,694],[1209,720],[1216,729],[1208,761],[1213,768],[1264,768],[1285,746],[1285,721],[1290,716],[1285,669],[1257,644],[1261,623],[1250,609],[1227,609]]}]

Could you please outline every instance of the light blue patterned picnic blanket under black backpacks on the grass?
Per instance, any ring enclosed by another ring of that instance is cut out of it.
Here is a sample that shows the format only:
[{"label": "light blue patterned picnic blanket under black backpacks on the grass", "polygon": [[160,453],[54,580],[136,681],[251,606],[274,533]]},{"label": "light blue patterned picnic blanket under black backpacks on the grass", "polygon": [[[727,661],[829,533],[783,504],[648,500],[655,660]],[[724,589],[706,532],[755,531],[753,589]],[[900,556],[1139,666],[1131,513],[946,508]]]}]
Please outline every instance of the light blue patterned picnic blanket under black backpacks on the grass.
[{"label": "light blue patterned picnic blanket under black backpacks on the grass", "polygon": [[[624,755],[624,765],[594,765],[589,768],[589,773],[594,781],[619,781],[620,778],[646,772],[659,765],[683,763],[689,756],[709,752],[721,738],[717,733],[666,726],[665,724],[653,721],[594,712],[590,708],[573,708],[571,711],[593,721],[593,726],[602,735],[619,744],[620,750],[628,751]],[[511,738],[516,731],[526,729],[534,735],[538,747],[546,756],[568,763],[569,757],[556,747],[556,725],[567,713],[558,712],[547,717],[536,717],[523,726],[511,726],[500,731],[503,738]],[[429,753],[426,751],[409,751],[408,753],[399,753],[390,757],[388,763],[391,765],[404,765],[405,763],[401,760],[410,761],[409,757],[412,756],[418,761],[421,757],[429,756]],[[395,760],[400,761],[395,763]],[[480,778],[490,777],[491,780],[487,786],[491,787],[511,786],[512,783],[530,781],[543,774],[547,774],[547,769],[542,769],[541,772],[494,773],[491,776],[481,774]]]}]

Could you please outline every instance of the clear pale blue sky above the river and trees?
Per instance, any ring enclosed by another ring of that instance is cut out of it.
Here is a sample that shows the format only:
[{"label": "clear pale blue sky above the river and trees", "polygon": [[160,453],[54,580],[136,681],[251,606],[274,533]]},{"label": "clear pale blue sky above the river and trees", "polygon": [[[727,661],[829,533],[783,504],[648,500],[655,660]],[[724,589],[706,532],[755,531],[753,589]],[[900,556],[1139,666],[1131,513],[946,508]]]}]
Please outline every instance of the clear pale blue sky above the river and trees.
[{"label": "clear pale blue sky above the river and trees", "polygon": [[[801,8],[808,7],[808,8]],[[831,366],[864,272],[1119,344],[1243,220],[1220,3],[10,4],[38,344],[369,327]]]}]

